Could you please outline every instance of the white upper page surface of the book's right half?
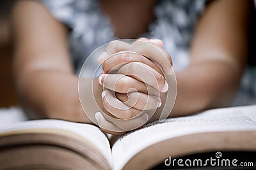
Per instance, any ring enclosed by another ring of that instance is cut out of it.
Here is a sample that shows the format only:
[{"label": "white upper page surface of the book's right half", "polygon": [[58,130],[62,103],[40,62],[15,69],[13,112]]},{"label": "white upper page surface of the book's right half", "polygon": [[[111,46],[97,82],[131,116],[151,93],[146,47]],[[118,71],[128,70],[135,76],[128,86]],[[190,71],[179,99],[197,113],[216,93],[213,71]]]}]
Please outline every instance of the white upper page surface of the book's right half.
[{"label": "white upper page surface of the book's right half", "polygon": [[136,153],[165,139],[201,132],[256,131],[256,105],[208,110],[189,117],[152,122],[125,134],[112,147],[113,169],[122,169]]}]

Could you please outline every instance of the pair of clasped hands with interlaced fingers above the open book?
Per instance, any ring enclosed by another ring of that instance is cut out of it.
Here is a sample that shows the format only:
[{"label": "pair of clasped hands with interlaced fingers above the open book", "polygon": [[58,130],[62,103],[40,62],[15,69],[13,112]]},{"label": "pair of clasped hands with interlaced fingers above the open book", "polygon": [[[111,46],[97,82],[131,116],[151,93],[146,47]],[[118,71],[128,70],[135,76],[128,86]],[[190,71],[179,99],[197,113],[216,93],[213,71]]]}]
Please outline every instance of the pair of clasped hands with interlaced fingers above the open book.
[{"label": "pair of clasped hands with interlaced fingers above the open book", "polygon": [[[152,60],[164,66],[164,71],[168,74],[171,73],[172,60],[161,48],[163,43],[160,40],[143,40],[135,41],[132,45],[113,41],[106,48],[105,55],[115,55],[103,58],[101,55],[99,58],[100,62],[103,61],[103,73],[116,73],[102,74],[99,77],[99,83],[113,90],[117,97],[116,99],[109,90],[102,92],[103,106],[110,116],[103,117],[101,113],[97,113],[99,125],[104,129],[129,131],[138,128],[147,122],[147,113],[161,106],[159,92],[166,92],[168,84],[161,69]],[[149,43],[145,43],[145,40]],[[153,48],[151,43],[154,43]],[[129,52],[118,53],[119,50]],[[125,120],[128,118],[129,120]]]}]

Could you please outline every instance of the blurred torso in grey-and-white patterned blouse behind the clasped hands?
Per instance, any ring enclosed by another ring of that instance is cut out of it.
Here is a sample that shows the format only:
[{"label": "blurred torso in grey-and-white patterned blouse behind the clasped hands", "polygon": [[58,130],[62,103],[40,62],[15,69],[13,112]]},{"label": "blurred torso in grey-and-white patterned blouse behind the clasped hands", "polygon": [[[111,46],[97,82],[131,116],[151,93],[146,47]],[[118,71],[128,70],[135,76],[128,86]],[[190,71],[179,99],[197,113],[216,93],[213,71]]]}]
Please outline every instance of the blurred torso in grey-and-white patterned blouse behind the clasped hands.
[{"label": "blurred torso in grey-and-white patterned blouse behind the clasped hands", "polygon": [[[70,28],[70,53],[79,73],[86,57],[99,46],[118,38],[141,36],[161,39],[164,50],[172,56],[173,69],[184,69],[189,64],[189,45],[196,20],[207,0],[124,0],[123,4],[119,0],[39,1]],[[142,12],[143,1],[147,3]],[[256,103],[255,73],[251,67],[246,68],[233,105]]]}]

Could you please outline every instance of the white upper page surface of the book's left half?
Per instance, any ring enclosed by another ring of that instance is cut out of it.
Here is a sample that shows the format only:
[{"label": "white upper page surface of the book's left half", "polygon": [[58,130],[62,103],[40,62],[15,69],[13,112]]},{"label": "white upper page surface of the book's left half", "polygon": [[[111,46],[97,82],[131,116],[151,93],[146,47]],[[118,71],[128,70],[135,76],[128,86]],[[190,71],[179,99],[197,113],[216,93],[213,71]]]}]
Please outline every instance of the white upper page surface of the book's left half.
[{"label": "white upper page surface of the book's left half", "polygon": [[99,152],[108,160],[109,165],[112,164],[111,149],[106,135],[94,125],[80,124],[75,122],[68,122],[64,120],[31,120],[20,122],[0,129],[0,134],[4,132],[22,131],[28,129],[49,129],[62,130],[77,134],[77,136],[84,138],[84,140],[92,143]]}]

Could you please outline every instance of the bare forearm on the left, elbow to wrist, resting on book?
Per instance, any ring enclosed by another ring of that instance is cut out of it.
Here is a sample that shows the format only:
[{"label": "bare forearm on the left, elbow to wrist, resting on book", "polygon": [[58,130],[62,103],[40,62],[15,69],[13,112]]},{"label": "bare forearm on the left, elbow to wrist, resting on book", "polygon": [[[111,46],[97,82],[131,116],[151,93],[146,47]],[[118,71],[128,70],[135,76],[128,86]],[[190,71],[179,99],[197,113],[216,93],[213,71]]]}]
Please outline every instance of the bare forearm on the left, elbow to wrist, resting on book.
[{"label": "bare forearm on the left, elbow to wrist, resting on book", "polygon": [[76,75],[38,70],[20,74],[16,81],[20,103],[30,114],[91,123],[79,103]]}]

